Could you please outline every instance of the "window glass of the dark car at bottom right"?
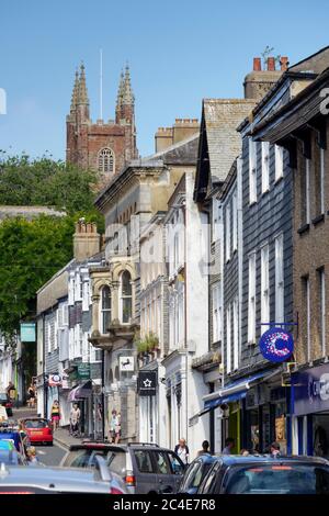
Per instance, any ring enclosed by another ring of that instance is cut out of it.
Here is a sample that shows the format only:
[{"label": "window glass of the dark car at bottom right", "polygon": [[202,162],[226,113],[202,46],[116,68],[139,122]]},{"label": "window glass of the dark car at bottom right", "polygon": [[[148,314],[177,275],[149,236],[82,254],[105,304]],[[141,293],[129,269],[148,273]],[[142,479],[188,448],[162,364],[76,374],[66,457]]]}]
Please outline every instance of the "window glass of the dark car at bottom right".
[{"label": "window glass of the dark car at bottom right", "polygon": [[227,494],[329,494],[329,468],[317,464],[264,464],[230,468]]}]

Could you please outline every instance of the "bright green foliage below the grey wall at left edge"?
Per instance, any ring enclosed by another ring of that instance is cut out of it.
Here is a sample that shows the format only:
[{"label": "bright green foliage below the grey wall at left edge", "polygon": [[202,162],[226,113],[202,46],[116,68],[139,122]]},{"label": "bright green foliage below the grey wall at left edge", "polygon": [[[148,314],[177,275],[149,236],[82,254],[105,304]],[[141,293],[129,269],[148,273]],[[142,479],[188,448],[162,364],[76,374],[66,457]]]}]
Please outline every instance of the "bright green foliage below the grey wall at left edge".
[{"label": "bright green foliage below the grey wall at left edge", "polygon": [[0,224],[0,327],[19,328],[35,314],[36,291],[72,257],[73,218],[42,215]]}]

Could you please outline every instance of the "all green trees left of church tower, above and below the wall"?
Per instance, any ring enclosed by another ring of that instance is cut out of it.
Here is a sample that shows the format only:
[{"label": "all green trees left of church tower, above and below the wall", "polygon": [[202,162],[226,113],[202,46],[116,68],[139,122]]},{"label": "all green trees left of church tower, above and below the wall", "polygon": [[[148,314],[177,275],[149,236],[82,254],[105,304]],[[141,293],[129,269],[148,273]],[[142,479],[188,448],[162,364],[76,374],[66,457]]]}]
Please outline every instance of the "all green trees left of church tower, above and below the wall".
[{"label": "all green trees left of church tower, above and below the wall", "polygon": [[50,156],[31,159],[0,150],[0,205],[42,205],[64,216],[0,224],[0,328],[12,338],[22,318],[35,316],[36,291],[72,258],[75,223],[84,217],[104,232],[94,209],[98,176]]}]

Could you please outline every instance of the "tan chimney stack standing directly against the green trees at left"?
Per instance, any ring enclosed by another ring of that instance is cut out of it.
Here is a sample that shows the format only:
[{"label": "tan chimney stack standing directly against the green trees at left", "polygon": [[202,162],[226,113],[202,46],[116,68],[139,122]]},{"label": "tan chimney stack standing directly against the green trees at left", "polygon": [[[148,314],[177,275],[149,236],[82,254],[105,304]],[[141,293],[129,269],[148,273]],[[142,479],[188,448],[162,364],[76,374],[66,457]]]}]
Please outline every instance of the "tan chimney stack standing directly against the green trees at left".
[{"label": "tan chimney stack standing directly against the green trees at left", "polygon": [[73,235],[73,255],[77,261],[84,261],[101,250],[101,236],[95,223],[80,220]]}]

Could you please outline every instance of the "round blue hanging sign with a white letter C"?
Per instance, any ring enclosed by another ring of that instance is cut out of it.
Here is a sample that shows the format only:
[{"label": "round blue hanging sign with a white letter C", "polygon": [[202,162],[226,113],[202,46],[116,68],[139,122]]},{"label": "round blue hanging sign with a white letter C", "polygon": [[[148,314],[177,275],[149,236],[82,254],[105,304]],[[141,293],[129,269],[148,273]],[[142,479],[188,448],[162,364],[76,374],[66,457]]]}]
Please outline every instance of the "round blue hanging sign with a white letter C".
[{"label": "round blue hanging sign with a white letter C", "polygon": [[268,329],[259,341],[262,356],[271,362],[284,362],[294,351],[293,336],[285,329]]}]

